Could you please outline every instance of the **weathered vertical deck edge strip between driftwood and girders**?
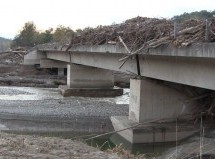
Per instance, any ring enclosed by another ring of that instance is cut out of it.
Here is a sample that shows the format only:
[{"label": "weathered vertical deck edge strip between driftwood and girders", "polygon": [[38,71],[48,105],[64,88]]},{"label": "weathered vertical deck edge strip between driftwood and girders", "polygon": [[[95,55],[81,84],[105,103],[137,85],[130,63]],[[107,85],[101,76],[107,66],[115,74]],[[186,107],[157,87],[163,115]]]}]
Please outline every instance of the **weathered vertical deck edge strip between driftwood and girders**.
[{"label": "weathered vertical deck edge strip between driftwood and girders", "polygon": [[[71,53],[88,52],[88,53],[120,53],[128,54],[124,47],[118,45],[81,45],[74,46],[69,50]],[[40,50],[40,52],[46,52]],[[58,51],[62,52],[62,51]],[[215,58],[215,43],[194,43],[186,47],[160,46],[155,49],[145,49],[139,51],[139,54],[157,55],[157,56],[177,56],[177,57],[201,57]]]}]

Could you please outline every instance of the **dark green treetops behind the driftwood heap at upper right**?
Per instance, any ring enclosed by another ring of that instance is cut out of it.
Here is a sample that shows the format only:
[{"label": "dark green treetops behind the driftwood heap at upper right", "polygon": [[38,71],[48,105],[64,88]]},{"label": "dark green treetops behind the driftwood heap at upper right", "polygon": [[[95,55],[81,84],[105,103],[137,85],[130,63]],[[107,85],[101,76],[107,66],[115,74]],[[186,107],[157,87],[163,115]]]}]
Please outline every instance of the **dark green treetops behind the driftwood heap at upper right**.
[{"label": "dark green treetops behind the driftwood heap at upper right", "polygon": [[214,11],[206,11],[206,10],[202,10],[199,12],[191,12],[191,13],[183,13],[181,15],[177,15],[174,16],[172,18],[172,20],[178,21],[178,22],[182,22],[188,19],[200,19],[200,20],[204,20],[204,19],[210,19],[215,15],[215,10]]}]

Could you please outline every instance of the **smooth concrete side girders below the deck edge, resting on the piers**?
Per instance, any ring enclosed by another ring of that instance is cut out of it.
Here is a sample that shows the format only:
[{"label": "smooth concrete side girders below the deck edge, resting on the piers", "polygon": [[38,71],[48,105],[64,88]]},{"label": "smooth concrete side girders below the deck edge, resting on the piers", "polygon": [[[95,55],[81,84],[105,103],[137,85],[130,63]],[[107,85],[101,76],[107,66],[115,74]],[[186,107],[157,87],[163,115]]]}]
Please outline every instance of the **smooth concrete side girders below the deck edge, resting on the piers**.
[{"label": "smooth concrete side girders below the deck edge, resting on the piers", "polygon": [[[119,59],[123,57],[120,53],[74,52],[69,55],[65,52],[48,52],[47,57],[97,68],[137,73],[134,58],[129,59],[119,69],[122,63]],[[139,55],[139,62],[141,76],[215,90],[214,58]]]}]

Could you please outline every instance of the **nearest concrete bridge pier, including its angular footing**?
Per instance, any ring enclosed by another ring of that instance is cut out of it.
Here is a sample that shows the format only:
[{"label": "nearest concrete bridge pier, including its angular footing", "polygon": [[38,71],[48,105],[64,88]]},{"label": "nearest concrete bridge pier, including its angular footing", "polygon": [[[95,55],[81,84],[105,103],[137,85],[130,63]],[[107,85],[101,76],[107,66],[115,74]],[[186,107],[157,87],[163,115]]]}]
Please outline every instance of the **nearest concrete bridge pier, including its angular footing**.
[{"label": "nearest concrete bridge pier, including its angular footing", "polygon": [[[115,130],[131,143],[171,142],[176,140],[177,118],[190,119],[193,103],[186,103],[189,97],[168,85],[151,79],[130,80],[129,116],[113,116]],[[196,129],[187,124],[180,125],[177,138],[181,140],[192,135]]]}]

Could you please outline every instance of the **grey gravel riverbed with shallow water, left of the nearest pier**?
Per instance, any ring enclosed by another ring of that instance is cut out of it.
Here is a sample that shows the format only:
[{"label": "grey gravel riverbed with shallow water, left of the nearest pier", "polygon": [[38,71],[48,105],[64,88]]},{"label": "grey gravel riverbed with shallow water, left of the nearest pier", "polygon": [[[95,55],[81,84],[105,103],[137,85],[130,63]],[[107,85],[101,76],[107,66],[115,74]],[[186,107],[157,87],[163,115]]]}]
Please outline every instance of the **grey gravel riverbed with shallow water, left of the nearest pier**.
[{"label": "grey gravel riverbed with shallow water, left of the nearest pier", "polygon": [[0,87],[6,131],[112,131],[110,116],[128,115],[128,90],[116,98],[62,97],[57,88]]}]

